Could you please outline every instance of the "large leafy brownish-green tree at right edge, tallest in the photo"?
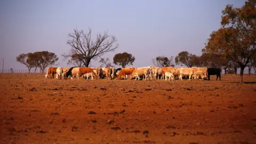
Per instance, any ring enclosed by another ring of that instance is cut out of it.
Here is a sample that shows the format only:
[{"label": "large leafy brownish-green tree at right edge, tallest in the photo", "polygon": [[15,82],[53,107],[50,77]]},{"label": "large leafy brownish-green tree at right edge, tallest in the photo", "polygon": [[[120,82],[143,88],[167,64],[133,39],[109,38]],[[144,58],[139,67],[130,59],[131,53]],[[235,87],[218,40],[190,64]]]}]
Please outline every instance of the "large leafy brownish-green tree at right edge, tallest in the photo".
[{"label": "large leafy brownish-green tree at right edge, tallest in the photo", "polygon": [[256,51],[255,1],[246,1],[243,7],[227,5],[222,11],[222,28],[213,31],[203,52],[215,53],[236,61],[241,68],[243,83],[244,68]]}]

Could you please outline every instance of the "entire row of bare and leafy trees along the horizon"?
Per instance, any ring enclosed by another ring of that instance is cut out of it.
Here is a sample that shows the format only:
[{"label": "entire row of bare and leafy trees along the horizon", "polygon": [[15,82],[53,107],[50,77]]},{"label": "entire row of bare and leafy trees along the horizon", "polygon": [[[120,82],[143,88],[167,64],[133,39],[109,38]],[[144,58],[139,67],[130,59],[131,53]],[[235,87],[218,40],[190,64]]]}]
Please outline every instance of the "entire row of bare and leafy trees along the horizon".
[{"label": "entire row of bare and leafy trees along the horizon", "polygon": [[[256,63],[256,5],[255,1],[247,0],[243,7],[236,8],[227,5],[222,10],[221,28],[210,34],[208,42],[202,49],[202,55],[197,56],[187,51],[180,52],[173,60],[173,57],[158,56],[152,59],[157,67],[184,65],[187,67],[221,68],[226,73],[237,73],[240,68],[241,82],[243,82],[244,68],[249,67],[255,70]],[[108,52],[118,48],[115,36],[105,31],[97,34],[93,40],[92,30],[85,33],[83,30],[74,29],[68,34],[67,44],[71,47],[68,54],[61,56],[63,60],[68,59],[69,65],[89,67],[91,60],[99,60],[101,66],[111,66],[109,58],[101,58]],[[30,70],[31,67],[38,67],[44,71],[45,67],[53,65],[58,57],[52,52],[35,52],[21,54],[17,61],[23,63]],[[113,63],[122,67],[133,65],[135,57],[127,52],[118,53],[113,58]],[[175,63],[174,63],[175,62]]]}]

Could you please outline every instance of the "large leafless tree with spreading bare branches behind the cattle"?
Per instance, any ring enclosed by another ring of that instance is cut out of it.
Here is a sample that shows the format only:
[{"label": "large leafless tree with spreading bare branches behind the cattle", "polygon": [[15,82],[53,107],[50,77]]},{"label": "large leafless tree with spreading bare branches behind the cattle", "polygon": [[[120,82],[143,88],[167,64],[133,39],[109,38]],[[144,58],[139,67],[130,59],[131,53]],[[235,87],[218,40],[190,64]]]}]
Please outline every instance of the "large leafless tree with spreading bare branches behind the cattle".
[{"label": "large leafless tree with spreading bare branches behind the cattle", "polygon": [[92,30],[89,28],[88,33],[83,30],[74,29],[74,33],[68,34],[67,44],[71,46],[70,54],[62,54],[63,60],[72,58],[72,55],[77,54],[77,59],[83,62],[85,67],[90,65],[91,60],[98,60],[103,54],[115,51],[118,48],[116,37],[108,35],[105,31],[103,35],[97,34],[95,41],[92,40]]}]

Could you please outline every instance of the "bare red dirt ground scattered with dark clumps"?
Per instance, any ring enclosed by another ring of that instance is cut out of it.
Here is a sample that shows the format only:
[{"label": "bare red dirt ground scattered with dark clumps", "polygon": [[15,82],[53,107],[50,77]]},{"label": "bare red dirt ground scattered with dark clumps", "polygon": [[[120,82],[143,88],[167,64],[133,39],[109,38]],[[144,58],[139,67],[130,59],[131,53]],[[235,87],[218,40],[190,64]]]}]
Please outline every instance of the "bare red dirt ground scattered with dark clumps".
[{"label": "bare red dirt ground scattered with dark clumps", "polygon": [[[256,143],[256,76],[221,81],[0,74],[1,143]],[[254,82],[254,83],[253,83]]]}]

